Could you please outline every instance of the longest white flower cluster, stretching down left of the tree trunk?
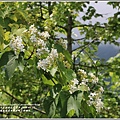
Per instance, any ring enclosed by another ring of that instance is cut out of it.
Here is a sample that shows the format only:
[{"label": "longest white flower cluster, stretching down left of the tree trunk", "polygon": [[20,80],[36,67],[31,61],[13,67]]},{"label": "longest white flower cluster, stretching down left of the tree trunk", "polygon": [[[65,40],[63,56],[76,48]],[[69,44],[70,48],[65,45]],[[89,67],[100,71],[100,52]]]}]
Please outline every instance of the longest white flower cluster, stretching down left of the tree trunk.
[{"label": "longest white flower cluster, stretching down left of the tree trunk", "polygon": [[57,50],[52,48],[50,51],[47,47],[47,38],[49,38],[50,35],[47,31],[38,32],[34,25],[30,26],[29,31],[31,34],[30,41],[37,47],[36,55],[40,58],[41,55],[47,54],[46,58],[39,59],[37,68],[48,70],[55,62],[55,59],[58,58]]}]

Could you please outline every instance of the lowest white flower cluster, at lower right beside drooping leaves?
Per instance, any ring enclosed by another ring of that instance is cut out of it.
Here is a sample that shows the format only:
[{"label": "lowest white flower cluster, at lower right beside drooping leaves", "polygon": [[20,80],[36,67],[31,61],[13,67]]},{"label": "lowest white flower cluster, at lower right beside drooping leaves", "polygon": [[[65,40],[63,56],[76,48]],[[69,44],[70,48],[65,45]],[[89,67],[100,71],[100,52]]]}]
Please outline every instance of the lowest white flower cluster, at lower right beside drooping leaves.
[{"label": "lowest white flower cluster, at lower right beside drooping leaves", "polygon": [[89,106],[94,105],[97,112],[100,112],[101,108],[103,108],[103,102],[101,100],[101,95],[103,91],[104,91],[103,87],[100,87],[98,91],[95,91],[93,93],[91,92],[90,95],[88,96],[89,97],[88,105]]}]

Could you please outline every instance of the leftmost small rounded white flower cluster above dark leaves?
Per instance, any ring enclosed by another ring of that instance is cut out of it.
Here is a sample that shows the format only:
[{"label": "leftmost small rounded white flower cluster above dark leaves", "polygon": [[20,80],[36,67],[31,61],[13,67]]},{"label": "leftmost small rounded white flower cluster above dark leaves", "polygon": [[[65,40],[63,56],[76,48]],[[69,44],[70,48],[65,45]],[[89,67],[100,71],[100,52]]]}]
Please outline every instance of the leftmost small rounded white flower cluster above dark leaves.
[{"label": "leftmost small rounded white flower cluster above dark leaves", "polygon": [[24,51],[24,45],[21,36],[13,36],[12,40],[10,41],[10,47],[15,51]]}]

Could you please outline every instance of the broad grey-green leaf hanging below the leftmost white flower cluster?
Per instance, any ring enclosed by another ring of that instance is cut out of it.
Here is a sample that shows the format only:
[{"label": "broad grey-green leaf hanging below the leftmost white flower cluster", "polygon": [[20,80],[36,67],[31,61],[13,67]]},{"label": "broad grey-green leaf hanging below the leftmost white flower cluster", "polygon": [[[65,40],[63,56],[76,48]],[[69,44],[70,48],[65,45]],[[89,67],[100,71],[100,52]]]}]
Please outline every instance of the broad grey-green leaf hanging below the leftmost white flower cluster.
[{"label": "broad grey-green leaf hanging below the leftmost white flower cluster", "polygon": [[16,56],[14,56],[8,61],[7,65],[5,66],[5,75],[7,79],[10,79],[12,77],[17,66],[18,61],[16,60]]}]

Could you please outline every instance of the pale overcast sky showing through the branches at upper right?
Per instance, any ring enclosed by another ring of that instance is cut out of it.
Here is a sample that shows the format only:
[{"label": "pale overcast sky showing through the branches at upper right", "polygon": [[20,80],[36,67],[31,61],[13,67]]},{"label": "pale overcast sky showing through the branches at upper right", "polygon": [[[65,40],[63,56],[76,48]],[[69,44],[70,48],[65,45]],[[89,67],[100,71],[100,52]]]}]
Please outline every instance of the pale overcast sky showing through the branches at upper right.
[{"label": "pale overcast sky showing through the branches at upper right", "polygon": [[[108,5],[106,1],[99,1],[98,3],[95,3],[94,1],[91,1],[88,6],[93,6],[96,9],[96,12],[99,14],[103,14],[103,17],[98,18],[92,18],[91,20],[83,21],[82,16],[84,15],[83,12],[79,14],[79,17],[77,17],[77,20],[80,21],[83,24],[88,24],[90,21],[92,24],[95,24],[96,22],[105,23],[107,22],[107,18],[110,16],[113,16],[115,12],[117,12],[117,9],[113,9],[111,5]],[[86,12],[87,9],[84,9],[84,12]],[[81,38],[83,36],[80,35],[77,28],[73,29],[73,33],[77,35],[77,38]],[[73,36],[73,38],[76,38],[76,36]]]}]

